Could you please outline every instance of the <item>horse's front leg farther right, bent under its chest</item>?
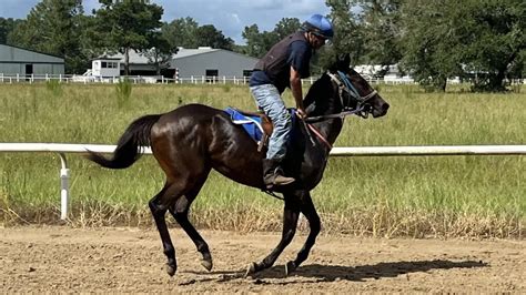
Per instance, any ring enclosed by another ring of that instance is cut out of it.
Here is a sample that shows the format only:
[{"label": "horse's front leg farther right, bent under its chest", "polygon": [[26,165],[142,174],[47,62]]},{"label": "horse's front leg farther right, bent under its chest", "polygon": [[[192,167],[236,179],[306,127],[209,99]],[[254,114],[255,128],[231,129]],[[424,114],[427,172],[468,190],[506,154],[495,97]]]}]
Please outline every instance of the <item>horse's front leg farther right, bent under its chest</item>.
[{"label": "horse's front leg farther right, bent under its chest", "polygon": [[286,275],[290,275],[292,272],[294,272],[297,266],[300,266],[300,264],[308,257],[308,253],[311,252],[312,246],[314,246],[316,236],[321,230],[320,216],[317,215],[316,208],[314,207],[311,194],[308,192],[305,192],[302,196],[301,212],[307,218],[311,232],[308,233],[307,240],[305,241],[302,250],[297,253],[296,258],[286,263]]}]

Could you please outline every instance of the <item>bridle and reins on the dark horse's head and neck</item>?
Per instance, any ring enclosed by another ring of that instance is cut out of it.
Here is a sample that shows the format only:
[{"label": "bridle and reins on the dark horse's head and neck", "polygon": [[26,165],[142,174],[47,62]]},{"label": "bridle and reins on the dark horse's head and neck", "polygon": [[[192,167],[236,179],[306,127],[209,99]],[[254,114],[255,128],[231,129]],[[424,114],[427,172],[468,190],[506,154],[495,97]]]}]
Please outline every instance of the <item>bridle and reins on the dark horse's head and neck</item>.
[{"label": "bridle and reins on the dark horse's head and neck", "polygon": [[[353,85],[348,77],[342,72],[337,71],[337,77],[336,74],[331,73],[327,71],[327,75],[331,78],[332,82],[334,82],[337,88],[338,88],[338,96],[340,101],[342,103],[342,112],[340,113],[334,113],[334,114],[325,114],[325,115],[317,115],[317,116],[308,116],[303,121],[304,126],[307,131],[307,134],[310,136],[311,143],[315,145],[314,140],[312,139],[311,134],[308,133],[308,130],[311,130],[325,145],[328,146],[328,150],[331,151],[332,144],[320,133],[318,130],[316,130],[312,124],[312,122],[320,122],[324,121],[327,119],[341,119],[342,121],[345,119],[347,115],[356,114],[362,118],[368,118],[368,114],[372,111],[372,106],[368,103],[368,101],[377,94],[376,90],[371,91],[371,93],[366,95],[360,95],[358,91],[356,88]],[[350,99],[348,102],[344,102],[344,93],[347,93]],[[354,101],[351,101],[354,99]],[[352,103],[356,103],[356,108],[352,108]]]}]

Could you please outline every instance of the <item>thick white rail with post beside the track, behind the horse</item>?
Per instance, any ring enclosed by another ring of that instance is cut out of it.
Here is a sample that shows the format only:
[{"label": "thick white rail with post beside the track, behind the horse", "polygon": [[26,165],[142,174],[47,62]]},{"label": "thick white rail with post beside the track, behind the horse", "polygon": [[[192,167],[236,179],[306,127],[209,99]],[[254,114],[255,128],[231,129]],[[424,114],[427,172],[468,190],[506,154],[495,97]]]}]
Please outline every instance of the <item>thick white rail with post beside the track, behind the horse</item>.
[{"label": "thick white rail with post beside the track, behind the horse", "polygon": [[[68,218],[70,200],[67,153],[113,153],[115,145],[67,143],[0,143],[0,152],[52,152],[60,155],[60,218]],[[151,154],[149,148],[144,154]],[[525,155],[526,145],[431,145],[334,148],[332,156],[435,156],[435,155]]]}]

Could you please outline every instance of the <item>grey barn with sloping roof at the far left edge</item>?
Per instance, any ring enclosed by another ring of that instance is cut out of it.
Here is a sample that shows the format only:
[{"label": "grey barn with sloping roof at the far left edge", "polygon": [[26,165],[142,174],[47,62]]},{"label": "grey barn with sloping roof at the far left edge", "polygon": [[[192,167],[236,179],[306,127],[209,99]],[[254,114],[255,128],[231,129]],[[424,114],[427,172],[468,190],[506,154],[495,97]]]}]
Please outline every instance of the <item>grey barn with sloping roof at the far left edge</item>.
[{"label": "grey barn with sloping roof at the far left edge", "polygon": [[64,74],[64,59],[0,44],[0,74]]}]

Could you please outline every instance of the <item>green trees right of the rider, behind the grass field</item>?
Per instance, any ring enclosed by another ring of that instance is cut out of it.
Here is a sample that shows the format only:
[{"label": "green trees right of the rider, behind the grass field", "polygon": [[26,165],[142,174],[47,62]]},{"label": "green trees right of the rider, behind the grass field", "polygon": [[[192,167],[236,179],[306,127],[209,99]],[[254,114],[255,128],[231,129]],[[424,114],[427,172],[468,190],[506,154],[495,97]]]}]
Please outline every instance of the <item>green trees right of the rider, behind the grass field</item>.
[{"label": "green trees right of the rider, behind the grass field", "polygon": [[[326,0],[336,24],[332,52],[355,64],[398,64],[421,84],[448,78],[476,91],[505,90],[526,60],[524,0]],[[356,9],[358,8],[358,9]]]}]

